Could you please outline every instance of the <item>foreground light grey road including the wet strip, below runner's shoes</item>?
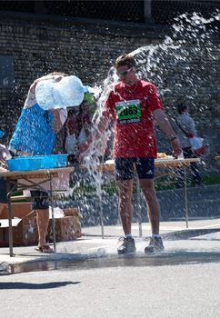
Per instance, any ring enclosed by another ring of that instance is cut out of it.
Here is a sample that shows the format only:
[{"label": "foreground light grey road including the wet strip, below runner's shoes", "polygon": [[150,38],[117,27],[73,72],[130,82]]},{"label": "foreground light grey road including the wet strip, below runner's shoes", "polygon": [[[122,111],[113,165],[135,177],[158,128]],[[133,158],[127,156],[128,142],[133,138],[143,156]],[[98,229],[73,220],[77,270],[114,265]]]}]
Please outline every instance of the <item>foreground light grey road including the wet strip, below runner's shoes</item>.
[{"label": "foreground light grey road including the wet strip, below runner's shoes", "polygon": [[14,264],[13,274],[0,275],[1,316],[218,317],[220,249],[177,243],[155,255],[101,250],[75,261]]}]

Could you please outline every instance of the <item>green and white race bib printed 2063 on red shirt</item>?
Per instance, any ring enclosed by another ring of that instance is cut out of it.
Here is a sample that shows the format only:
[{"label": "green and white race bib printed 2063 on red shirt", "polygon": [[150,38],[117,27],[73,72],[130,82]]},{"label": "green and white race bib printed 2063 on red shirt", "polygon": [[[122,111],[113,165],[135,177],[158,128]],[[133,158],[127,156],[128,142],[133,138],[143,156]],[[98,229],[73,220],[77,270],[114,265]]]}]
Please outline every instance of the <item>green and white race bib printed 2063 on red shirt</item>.
[{"label": "green and white race bib printed 2063 on red shirt", "polygon": [[116,117],[119,124],[133,124],[141,121],[139,99],[116,103]]}]

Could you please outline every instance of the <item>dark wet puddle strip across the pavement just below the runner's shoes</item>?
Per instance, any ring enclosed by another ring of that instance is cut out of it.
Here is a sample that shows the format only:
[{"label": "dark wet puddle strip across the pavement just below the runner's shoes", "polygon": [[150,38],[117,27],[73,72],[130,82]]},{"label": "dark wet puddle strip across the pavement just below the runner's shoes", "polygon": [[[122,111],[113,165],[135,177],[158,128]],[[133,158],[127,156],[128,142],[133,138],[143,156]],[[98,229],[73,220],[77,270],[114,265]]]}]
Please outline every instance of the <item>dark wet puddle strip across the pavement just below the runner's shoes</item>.
[{"label": "dark wet puddle strip across the pavement just below the runner's shoes", "polygon": [[27,273],[54,270],[72,271],[123,266],[175,266],[195,263],[220,263],[220,253],[206,251],[187,252],[179,250],[174,253],[160,253],[155,255],[135,253],[130,255],[105,254],[104,256],[98,256],[94,254],[84,255],[80,260],[75,260],[73,257],[68,260],[10,264],[7,269],[7,273]]}]

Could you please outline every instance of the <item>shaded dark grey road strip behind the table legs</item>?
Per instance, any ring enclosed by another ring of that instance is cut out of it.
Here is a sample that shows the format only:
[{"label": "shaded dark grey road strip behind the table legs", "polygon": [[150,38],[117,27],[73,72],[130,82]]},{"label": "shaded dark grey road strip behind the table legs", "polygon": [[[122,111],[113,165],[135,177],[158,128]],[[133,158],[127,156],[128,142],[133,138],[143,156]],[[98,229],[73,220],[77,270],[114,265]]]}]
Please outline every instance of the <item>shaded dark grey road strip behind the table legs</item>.
[{"label": "shaded dark grey road strip behind the table legs", "polygon": [[[219,207],[219,184],[203,187],[190,187],[187,189],[188,216],[189,220],[199,218],[218,218]],[[185,220],[185,191],[166,190],[158,191],[157,198],[161,205],[161,220]],[[100,201],[97,198],[85,198],[81,200],[69,201],[68,203],[57,202],[62,207],[78,207],[82,214],[82,226],[93,226],[100,224]],[[136,195],[132,198],[133,222],[138,223]],[[141,220],[148,222],[145,200],[141,196]],[[118,199],[116,196],[102,197],[103,218],[105,225],[117,224],[118,218]]]}]

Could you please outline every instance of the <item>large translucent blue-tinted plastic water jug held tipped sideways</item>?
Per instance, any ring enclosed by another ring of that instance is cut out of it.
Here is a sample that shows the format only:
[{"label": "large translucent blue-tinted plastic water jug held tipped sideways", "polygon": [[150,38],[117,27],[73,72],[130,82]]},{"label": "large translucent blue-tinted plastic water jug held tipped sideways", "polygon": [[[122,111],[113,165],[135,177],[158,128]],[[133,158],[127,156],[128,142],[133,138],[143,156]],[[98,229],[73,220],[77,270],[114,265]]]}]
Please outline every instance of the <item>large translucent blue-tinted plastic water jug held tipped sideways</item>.
[{"label": "large translucent blue-tinted plastic water jug held tipped sideways", "polygon": [[43,109],[78,106],[87,92],[75,75],[65,76],[59,82],[54,79],[40,81],[35,87],[36,102]]}]

